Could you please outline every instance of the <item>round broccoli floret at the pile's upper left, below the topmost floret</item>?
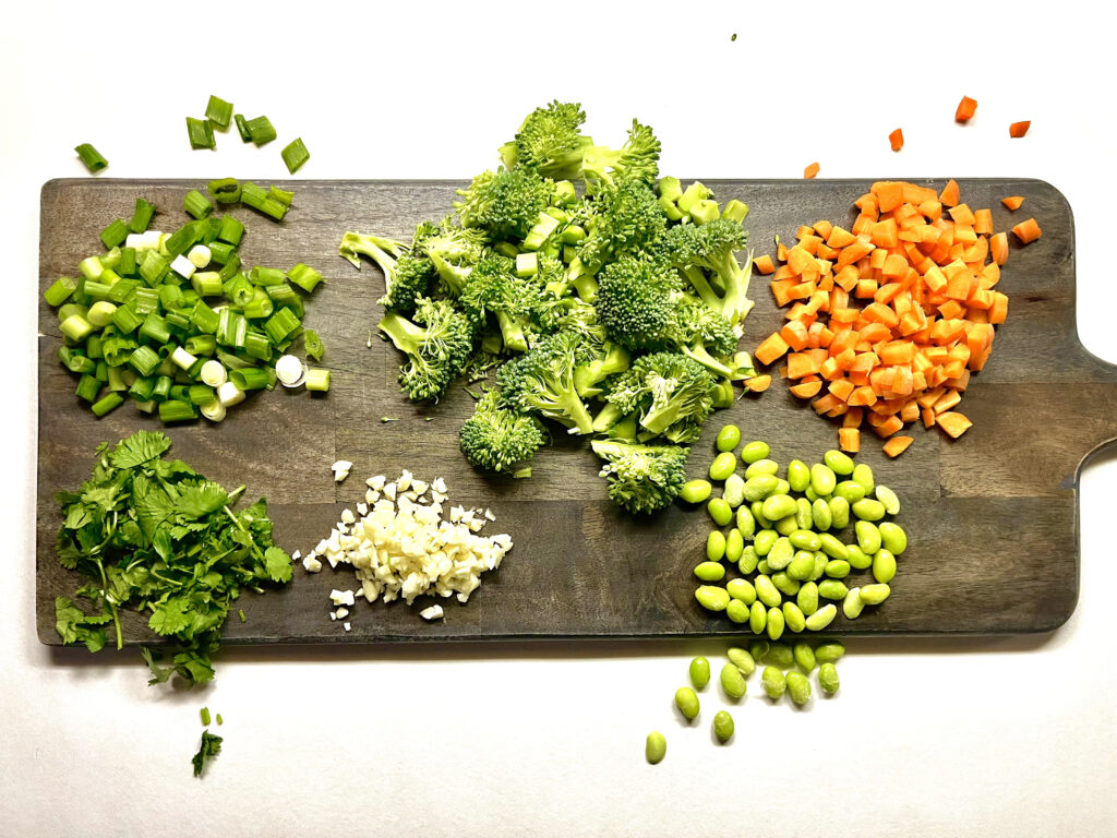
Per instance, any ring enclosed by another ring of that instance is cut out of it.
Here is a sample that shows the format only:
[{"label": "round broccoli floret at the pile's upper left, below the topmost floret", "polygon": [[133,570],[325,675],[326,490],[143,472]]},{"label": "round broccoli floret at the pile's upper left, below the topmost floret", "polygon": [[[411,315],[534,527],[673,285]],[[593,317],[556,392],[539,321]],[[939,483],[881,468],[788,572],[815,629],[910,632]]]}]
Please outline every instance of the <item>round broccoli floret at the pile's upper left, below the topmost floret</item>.
[{"label": "round broccoli floret at the pile's upper left, below the topmost floret", "polygon": [[487,171],[459,189],[455,208],[462,227],[479,228],[493,241],[523,239],[551,203],[554,181],[529,169]]}]

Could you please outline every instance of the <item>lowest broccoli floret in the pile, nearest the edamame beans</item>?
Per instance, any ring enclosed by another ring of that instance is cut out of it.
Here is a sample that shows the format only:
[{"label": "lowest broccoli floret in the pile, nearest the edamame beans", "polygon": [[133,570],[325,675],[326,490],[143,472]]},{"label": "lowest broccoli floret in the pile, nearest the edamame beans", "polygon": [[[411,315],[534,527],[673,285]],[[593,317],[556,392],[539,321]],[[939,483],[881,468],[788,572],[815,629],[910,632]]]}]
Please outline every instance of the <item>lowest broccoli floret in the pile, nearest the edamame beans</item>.
[{"label": "lowest broccoli floret in the pile, nearest the edamame beans", "polygon": [[609,497],[632,513],[652,513],[669,506],[686,483],[690,449],[675,445],[639,445],[595,439],[593,453],[605,460]]}]

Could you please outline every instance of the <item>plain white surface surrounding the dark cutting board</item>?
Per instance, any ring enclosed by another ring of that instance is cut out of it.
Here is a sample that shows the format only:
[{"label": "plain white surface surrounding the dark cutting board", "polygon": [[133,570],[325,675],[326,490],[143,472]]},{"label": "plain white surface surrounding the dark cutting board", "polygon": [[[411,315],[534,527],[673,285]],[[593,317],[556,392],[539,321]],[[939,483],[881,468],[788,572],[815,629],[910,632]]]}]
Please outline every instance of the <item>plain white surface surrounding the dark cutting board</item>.
[{"label": "plain white surface surrounding the dark cutting board", "polygon": [[[806,712],[748,698],[728,747],[710,741],[715,694],[697,730],[670,704],[689,656],[718,660],[720,644],[229,649],[203,694],[147,687],[132,653],[89,663],[39,645],[38,200],[45,181],[84,175],[78,142],[113,177],[212,177],[220,161],[283,178],[298,133],[313,154],[299,177],[460,179],[557,97],[584,105],[594,136],[652,125],[666,172],[798,178],[817,160],[820,178],[1041,178],[1075,210],[1082,341],[1117,361],[1115,65],[1096,4],[374,6],[6,13],[0,835],[1115,834],[1105,455],[1081,476],[1081,598],[1063,628],[851,642],[838,698]],[[183,117],[210,93],[268,114],[281,142],[191,152]],[[965,127],[963,94],[978,102]],[[202,704],[227,720],[226,750],[198,781]],[[642,759],[652,729],[669,742],[658,766]]]}]

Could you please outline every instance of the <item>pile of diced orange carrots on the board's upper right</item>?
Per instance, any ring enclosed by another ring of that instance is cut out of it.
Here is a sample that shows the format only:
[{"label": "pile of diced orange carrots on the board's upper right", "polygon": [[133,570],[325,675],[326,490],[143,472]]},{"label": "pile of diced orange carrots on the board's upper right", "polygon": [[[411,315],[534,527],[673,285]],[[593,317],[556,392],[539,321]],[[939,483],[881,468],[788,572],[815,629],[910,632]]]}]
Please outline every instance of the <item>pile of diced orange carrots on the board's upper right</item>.
[{"label": "pile of diced orange carrots on the board's upper right", "polygon": [[[896,457],[913,441],[899,435],[907,425],[954,438],[973,425],[954,408],[1009,312],[995,289],[1008,237],[993,235],[989,209],[962,202],[953,180],[942,193],[879,181],[856,206],[849,230],[801,227],[793,247],[779,245],[779,267],[755,260],[787,312],[754,354],[765,365],[786,355],[792,393],[841,419],[842,450],[860,450],[863,423]],[[1025,232],[1038,238],[1038,225]]]}]

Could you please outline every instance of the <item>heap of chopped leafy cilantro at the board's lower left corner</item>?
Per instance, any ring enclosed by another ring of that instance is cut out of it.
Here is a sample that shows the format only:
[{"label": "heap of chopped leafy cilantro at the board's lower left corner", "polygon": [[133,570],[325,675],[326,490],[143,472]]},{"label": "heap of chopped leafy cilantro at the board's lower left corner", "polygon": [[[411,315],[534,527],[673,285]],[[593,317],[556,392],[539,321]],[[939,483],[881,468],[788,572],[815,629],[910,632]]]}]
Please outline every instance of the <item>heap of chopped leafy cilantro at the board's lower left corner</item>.
[{"label": "heap of chopped leafy cilantro at the board's lower left corner", "polygon": [[112,623],[123,646],[120,610],[150,613],[149,627],[168,638],[170,663],[144,647],[149,684],[178,674],[190,684],[213,678],[217,650],[232,603],[244,589],[292,578],[290,556],[271,541],[267,502],[233,512],[244,486],[226,492],[179,459],[164,458],[171,440],[137,431],[115,448],[97,447],[93,475],[77,492],[56,496],[64,517],[58,560],[90,581],[55,600],[56,629],[66,644],[104,648]]}]

